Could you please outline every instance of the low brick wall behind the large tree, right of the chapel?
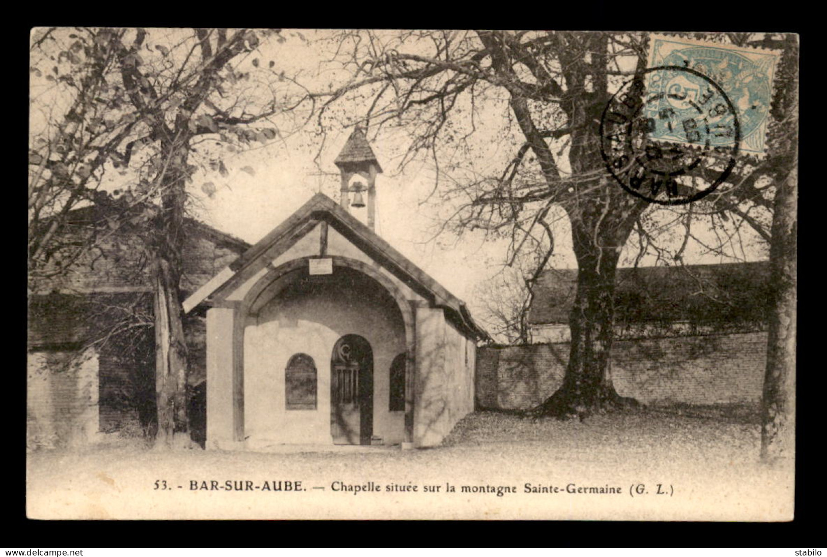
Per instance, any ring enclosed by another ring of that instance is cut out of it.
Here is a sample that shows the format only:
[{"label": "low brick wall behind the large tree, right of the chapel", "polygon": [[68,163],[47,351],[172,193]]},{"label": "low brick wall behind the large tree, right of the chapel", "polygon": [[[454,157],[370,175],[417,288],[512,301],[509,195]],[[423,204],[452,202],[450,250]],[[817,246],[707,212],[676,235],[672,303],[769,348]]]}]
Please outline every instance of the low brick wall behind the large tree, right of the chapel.
[{"label": "low brick wall behind the large tree, right of the chapel", "polygon": [[[618,393],[646,404],[718,404],[761,399],[767,333],[616,340],[612,378]],[[482,347],[477,352],[476,404],[522,410],[561,385],[567,342]]]}]

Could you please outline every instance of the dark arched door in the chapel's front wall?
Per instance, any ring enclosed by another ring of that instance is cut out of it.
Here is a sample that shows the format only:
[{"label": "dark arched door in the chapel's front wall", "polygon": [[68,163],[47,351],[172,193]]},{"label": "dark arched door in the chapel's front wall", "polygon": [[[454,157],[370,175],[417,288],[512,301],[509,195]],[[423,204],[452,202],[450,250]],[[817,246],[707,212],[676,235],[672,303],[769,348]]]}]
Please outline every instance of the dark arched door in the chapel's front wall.
[{"label": "dark arched door in the chapel's front wall", "polygon": [[373,350],[345,335],[330,359],[330,432],[335,445],[370,445],[373,435]]}]

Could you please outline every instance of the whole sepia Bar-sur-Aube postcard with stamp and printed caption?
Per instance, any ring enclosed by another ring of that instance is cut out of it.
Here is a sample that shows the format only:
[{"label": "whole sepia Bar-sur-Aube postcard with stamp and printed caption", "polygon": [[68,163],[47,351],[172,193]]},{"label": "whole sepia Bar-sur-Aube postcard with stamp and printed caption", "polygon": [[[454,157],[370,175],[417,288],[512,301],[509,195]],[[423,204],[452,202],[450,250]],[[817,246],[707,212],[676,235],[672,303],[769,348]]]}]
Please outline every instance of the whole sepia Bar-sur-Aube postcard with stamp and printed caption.
[{"label": "whole sepia Bar-sur-Aube postcard with stamp and printed caption", "polygon": [[798,59],[33,29],[26,515],[791,521]]}]

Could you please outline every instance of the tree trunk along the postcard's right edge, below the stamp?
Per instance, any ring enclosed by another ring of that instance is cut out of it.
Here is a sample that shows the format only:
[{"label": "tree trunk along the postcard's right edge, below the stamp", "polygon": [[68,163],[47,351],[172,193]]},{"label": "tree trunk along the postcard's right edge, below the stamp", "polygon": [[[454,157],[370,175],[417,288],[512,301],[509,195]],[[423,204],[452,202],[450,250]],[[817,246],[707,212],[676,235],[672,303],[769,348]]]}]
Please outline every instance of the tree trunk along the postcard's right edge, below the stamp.
[{"label": "tree trunk along the postcard's right edge, below the stamp", "polygon": [[778,188],[772,215],[770,281],[774,295],[767,339],[761,419],[761,458],[796,454],[796,266],[798,170]]}]

